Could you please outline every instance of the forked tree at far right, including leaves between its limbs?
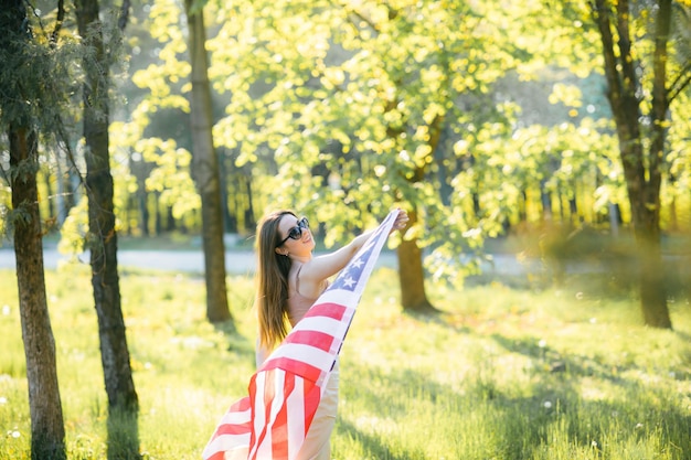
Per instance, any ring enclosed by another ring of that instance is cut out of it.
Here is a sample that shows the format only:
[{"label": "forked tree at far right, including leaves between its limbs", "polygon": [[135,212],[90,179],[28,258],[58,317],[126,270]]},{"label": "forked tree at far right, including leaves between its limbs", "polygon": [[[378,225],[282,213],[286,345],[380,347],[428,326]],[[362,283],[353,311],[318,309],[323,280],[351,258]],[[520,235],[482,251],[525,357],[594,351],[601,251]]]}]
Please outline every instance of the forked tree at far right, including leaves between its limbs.
[{"label": "forked tree at far right, including leaves between its limbs", "polygon": [[671,329],[660,247],[660,186],[670,105],[691,82],[691,60],[687,55],[674,65],[672,0],[594,0],[589,7],[600,35],[631,208],[644,320]]}]

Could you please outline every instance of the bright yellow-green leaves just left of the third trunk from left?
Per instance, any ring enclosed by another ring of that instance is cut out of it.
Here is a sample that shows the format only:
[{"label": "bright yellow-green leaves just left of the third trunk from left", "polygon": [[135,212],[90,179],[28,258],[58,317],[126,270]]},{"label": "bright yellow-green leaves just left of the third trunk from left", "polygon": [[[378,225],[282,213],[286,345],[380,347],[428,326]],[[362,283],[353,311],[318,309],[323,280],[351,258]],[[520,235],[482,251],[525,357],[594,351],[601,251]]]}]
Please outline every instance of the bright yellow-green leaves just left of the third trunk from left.
[{"label": "bright yellow-green leaves just left of the third trunk from left", "polygon": [[[190,106],[185,94],[191,88],[191,68],[183,34],[185,24],[181,23],[183,6],[156,1],[147,7],[150,20],[145,21],[130,46],[141,50],[139,44],[146,42],[158,52],[151,60],[141,56],[145,58],[137,61],[131,83],[139,89],[138,96],[129,117],[111,124],[111,143],[128,160],[124,174],[130,174],[130,161],[151,170],[140,195],[157,193],[162,210],[172,207],[174,217],[183,218],[201,207],[191,178],[191,153],[187,150],[190,147],[187,115]],[[139,185],[131,181],[127,186],[128,192],[134,193]],[[127,199],[129,193],[123,197]],[[123,202],[123,208],[126,203]]]}]

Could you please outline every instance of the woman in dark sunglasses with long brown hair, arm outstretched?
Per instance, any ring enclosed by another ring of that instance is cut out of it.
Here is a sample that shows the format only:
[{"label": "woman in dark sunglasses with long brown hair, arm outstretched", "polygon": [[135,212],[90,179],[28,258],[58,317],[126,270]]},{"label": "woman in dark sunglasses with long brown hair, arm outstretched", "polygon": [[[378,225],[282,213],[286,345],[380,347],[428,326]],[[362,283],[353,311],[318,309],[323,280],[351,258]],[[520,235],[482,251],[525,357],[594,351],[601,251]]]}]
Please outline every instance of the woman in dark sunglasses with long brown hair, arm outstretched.
[{"label": "woman in dark sunglasses with long brown hair, arm outstretched", "polygon": [[[407,221],[405,211],[400,210],[393,228],[405,228]],[[327,288],[328,278],[346,267],[371,233],[363,233],[333,253],[315,257],[315,240],[306,217],[277,211],[262,220],[257,236],[257,367],[286,336],[288,323],[295,327],[302,319]],[[338,384],[337,361],[298,460],[331,458],[329,438],[336,422]]]}]

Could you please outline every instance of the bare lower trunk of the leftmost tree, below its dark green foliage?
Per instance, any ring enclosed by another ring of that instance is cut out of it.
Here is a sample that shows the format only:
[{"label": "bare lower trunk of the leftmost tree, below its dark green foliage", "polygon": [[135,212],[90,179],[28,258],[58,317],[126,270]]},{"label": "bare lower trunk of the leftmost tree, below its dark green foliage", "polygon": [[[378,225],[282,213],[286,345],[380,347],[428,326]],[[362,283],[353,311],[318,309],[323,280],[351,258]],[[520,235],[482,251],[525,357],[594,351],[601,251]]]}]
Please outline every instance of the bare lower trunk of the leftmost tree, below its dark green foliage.
[{"label": "bare lower trunk of the leftmost tree, below its dark green foliage", "polygon": [[14,254],[29,381],[31,458],[64,459],[65,427],[57,386],[55,343],[45,298],[36,136],[24,127],[14,127],[10,128],[9,137],[11,167],[21,170],[11,185],[12,207],[21,213],[21,217],[13,221]]}]

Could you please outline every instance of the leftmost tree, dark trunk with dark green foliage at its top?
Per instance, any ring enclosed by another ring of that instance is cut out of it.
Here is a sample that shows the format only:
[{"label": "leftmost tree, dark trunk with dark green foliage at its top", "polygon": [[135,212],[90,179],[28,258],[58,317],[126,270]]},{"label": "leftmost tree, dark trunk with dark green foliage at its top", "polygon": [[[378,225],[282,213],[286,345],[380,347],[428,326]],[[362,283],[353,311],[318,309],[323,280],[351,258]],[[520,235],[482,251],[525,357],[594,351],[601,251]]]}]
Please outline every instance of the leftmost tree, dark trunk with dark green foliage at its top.
[{"label": "leftmost tree, dark trunk with dark green foliage at its top", "polygon": [[[64,459],[63,421],[55,342],[45,296],[43,245],[36,172],[39,136],[43,125],[61,107],[61,92],[45,76],[62,75],[59,51],[32,39],[22,1],[0,3],[0,126],[10,145],[10,178],[17,256],[17,282],[26,359],[29,409],[31,415],[31,458]],[[57,58],[56,61],[53,61]],[[45,82],[42,82],[45,79]],[[55,106],[51,106],[55,104]],[[45,110],[45,113],[42,113]],[[54,126],[53,126],[54,127]],[[47,129],[44,135],[49,135]]]}]

